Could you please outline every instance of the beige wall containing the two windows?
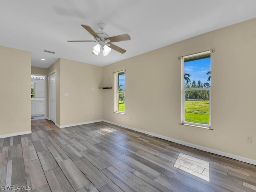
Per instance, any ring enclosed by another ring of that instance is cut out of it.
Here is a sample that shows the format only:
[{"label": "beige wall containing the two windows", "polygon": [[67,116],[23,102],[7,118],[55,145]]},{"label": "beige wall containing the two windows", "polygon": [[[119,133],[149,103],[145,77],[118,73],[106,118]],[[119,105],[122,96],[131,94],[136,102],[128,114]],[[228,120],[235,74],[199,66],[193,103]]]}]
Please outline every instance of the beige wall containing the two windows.
[{"label": "beige wall containing the two windows", "polygon": [[[112,72],[126,69],[126,114],[114,112],[114,89],[103,91],[103,119],[183,142],[256,160],[254,125],[256,19],[212,31],[104,67],[105,86]],[[212,128],[180,125],[178,56],[215,49],[211,55]]]}]

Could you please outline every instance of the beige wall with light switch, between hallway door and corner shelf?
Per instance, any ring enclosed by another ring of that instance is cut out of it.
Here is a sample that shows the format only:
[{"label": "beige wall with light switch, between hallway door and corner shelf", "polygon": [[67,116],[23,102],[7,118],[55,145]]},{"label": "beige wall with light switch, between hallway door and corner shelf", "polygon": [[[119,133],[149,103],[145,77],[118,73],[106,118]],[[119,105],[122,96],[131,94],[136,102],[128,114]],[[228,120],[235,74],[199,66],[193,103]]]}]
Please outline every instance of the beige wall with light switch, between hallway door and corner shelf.
[{"label": "beige wall with light switch, between hallway door and corner shelf", "polygon": [[61,58],[60,72],[60,126],[101,120],[103,68]]}]

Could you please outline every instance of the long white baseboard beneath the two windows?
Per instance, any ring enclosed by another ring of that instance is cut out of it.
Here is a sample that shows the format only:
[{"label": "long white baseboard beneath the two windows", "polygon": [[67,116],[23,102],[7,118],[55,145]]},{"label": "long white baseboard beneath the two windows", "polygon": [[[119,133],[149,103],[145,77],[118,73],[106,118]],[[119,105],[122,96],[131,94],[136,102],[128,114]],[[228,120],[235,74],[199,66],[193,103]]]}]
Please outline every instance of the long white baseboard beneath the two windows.
[{"label": "long white baseboard beneath the two windows", "polygon": [[214,149],[203,147],[203,146],[200,146],[200,145],[195,145],[195,144],[192,144],[192,143],[184,142],[184,141],[173,139],[173,138],[170,138],[170,137],[154,134],[154,133],[151,133],[151,132],[136,129],[136,128],[129,127],[129,126],[122,125],[122,124],[118,124],[118,123],[115,123],[115,122],[111,122],[111,121],[107,121],[107,120],[103,120],[103,121],[107,122],[107,123],[110,123],[110,124],[114,124],[114,125],[117,125],[117,126],[121,126],[121,127],[130,129],[130,130],[134,130],[134,131],[138,131],[138,132],[141,132],[141,133],[144,133],[144,134],[148,134],[148,135],[151,135],[151,136],[154,136],[154,137],[157,137],[157,138],[168,140],[168,141],[171,141],[171,142],[174,142],[174,143],[182,144],[182,145],[192,147],[192,148],[196,148],[196,149],[199,149],[199,150],[202,150],[202,151],[210,152],[210,153],[213,153],[213,154],[221,155],[221,156],[224,156],[224,157],[228,157],[228,158],[232,158],[232,159],[235,159],[235,160],[238,160],[238,161],[242,161],[242,162],[246,162],[246,163],[256,165],[256,160],[252,160],[252,159],[244,158],[244,157],[241,157],[241,156],[225,153],[225,152],[222,152],[222,151],[214,150]]}]

